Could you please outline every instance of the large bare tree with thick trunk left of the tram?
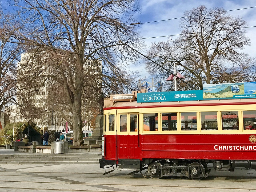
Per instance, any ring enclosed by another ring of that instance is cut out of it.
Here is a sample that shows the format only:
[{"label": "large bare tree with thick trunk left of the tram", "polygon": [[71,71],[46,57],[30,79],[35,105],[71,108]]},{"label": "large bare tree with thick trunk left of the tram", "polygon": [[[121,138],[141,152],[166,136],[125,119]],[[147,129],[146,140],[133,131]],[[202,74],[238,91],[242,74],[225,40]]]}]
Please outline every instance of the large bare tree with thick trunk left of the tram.
[{"label": "large bare tree with thick trunk left of the tram", "polygon": [[[33,53],[21,63],[29,71],[23,74],[27,80],[22,87],[29,89],[29,84],[36,84],[40,89],[45,83],[52,83],[51,93],[58,91],[49,98],[63,102],[60,106],[72,114],[73,145],[78,146],[82,142],[82,98],[87,102],[95,95],[98,99],[94,102],[99,102],[102,88],[123,91],[136,75],[127,73],[129,67],[120,69],[119,63],[137,57],[122,49],[118,41],[130,39],[134,47],[141,45],[136,40],[139,34],[135,26],[128,25],[136,22],[133,14],[139,7],[133,0],[15,2],[20,21],[27,27],[19,30],[16,37]],[[47,73],[45,69],[49,69]],[[65,98],[59,99],[63,94]]]}]

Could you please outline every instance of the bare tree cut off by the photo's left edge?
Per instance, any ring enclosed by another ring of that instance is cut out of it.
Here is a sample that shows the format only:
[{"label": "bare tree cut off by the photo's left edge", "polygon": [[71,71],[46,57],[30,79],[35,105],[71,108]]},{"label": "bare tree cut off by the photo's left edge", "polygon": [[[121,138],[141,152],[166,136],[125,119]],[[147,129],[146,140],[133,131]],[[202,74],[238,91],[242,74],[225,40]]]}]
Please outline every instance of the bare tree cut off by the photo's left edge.
[{"label": "bare tree cut off by the photo's left edge", "polygon": [[10,114],[10,105],[16,104],[17,63],[24,50],[13,33],[18,25],[9,25],[10,15],[0,4],[0,113]]}]

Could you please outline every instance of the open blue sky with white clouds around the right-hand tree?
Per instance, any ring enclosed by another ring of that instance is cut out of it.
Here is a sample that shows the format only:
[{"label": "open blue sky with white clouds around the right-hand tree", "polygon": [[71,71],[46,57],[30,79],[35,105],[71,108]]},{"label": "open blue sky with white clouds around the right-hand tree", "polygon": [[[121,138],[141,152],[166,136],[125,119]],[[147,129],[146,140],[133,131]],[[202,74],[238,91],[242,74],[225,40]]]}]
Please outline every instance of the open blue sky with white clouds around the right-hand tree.
[{"label": "open blue sky with white clouds around the right-hand tree", "polygon": [[[139,0],[142,8],[141,14],[137,14],[140,23],[159,21],[182,17],[186,10],[205,5],[207,8],[222,7],[225,10],[242,9],[256,6],[255,0]],[[247,22],[248,26],[256,26],[256,8],[229,11],[234,17],[240,16]],[[247,28],[247,35],[251,39],[251,46],[245,48],[244,52],[251,57],[256,57],[256,27]],[[179,19],[170,21],[142,24],[139,31],[142,38],[158,37],[180,34]],[[151,42],[166,41],[167,37],[145,39],[148,47]],[[149,75],[145,72],[144,66],[138,67],[143,70],[141,77]]]}]

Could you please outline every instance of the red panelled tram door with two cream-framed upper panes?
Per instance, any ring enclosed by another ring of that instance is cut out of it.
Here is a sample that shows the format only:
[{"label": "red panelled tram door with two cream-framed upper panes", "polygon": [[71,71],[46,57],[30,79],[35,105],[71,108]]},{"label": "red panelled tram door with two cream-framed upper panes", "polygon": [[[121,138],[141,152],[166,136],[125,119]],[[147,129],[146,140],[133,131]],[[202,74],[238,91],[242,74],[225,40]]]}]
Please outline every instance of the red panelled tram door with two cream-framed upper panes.
[{"label": "red panelled tram door with two cream-framed upper panes", "polygon": [[139,159],[139,130],[137,113],[119,114],[118,158]]}]

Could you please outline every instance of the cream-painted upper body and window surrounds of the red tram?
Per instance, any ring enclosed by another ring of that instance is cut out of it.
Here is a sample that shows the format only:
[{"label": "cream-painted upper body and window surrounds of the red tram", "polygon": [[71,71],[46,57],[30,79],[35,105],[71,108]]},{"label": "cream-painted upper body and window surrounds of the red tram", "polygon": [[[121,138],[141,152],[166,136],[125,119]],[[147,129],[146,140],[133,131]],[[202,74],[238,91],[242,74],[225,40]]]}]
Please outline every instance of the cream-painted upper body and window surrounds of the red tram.
[{"label": "cream-painted upper body and window surrounds of the red tram", "polygon": [[[220,102],[222,101],[222,102]],[[195,133],[201,133],[201,134],[235,134],[235,133],[249,133],[252,132],[253,130],[244,130],[242,129],[244,127],[243,125],[243,112],[242,111],[253,111],[256,109],[256,105],[255,104],[250,104],[250,102],[255,102],[255,99],[233,99],[233,103],[230,102],[230,100],[225,100],[225,103],[223,102],[223,100],[213,100],[213,104],[219,104],[219,105],[210,105],[209,101],[205,102],[205,101],[196,101],[196,102],[190,102],[190,105],[192,103],[194,103],[194,105],[197,105],[198,103],[203,103],[202,106],[184,106],[184,102],[166,102],[164,103],[164,105],[162,103],[162,105],[156,105],[156,103],[153,103],[151,105],[149,105],[147,103],[147,105],[142,106],[139,103],[136,102],[119,102],[119,103],[115,103],[115,107],[118,107],[118,109],[105,109],[104,110],[104,114],[108,115],[108,114],[117,114],[116,119],[118,119],[117,121],[119,121],[119,114],[128,114],[128,113],[138,113],[139,117],[138,117],[138,126],[139,126],[139,132],[140,134],[195,134]],[[249,102],[250,101],[250,102]],[[212,102],[212,100],[211,100]],[[226,102],[229,102],[229,105],[226,105]],[[121,104],[122,103],[122,104]],[[171,103],[171,106],[167,106],[167,103]],[[176,105],[174,105],[174,103],[176,103]],[[188,102],[186,102],[188,103]],[[206,105],[206,103],[208,103],[208,105]],[[145,103],[142,103],[145,104]],[[238,105],[236,105],[238,104]],[[122,107],[125,109],[122,109]],[[183,105],[183,106],[180,106]],[[126,108],[126,107],[131,107],[131,108]],[[218,116],[218,122],[217,122],[217,130],[202,130],[201,127],[201,112],[211,112],[211,111],[215,111],[216,115]],[[222,112],[225,111],[237,111],[236,113],[238,114],[238,121],[237,121],[237,127],[240,127],[238,130],[231,130],[231,129],[227,129],[227,130],[223,130],[222,126],[224,126],[224,123],[222,122],[221,118],[222,118]],[[162,113],[177,113],[177,130],[164,130],[162,129]],[[196,130],[185,130],[182,129],[182,123],[181,123],[181,114],[182,113],[186,113],[186,112],[195,112],[196,114],[196,119],[197,119],[197,123],[194,123],[191,129],[193,128],[193,126],[197,127]],[[200,112],[200,113],[199,113]],[[144,122],[145,119],[143,119],[143,114],[149,114],[149,113],[157,113],[157,129],[153,129],[151,131],[145,131],[143,129],[144,124],[142,124]],[[123,131],[123,132],[119,132],[119,125],[120,122],[117,122],[117,131],[118,134],[127,134],[129,133],[129,129],[127,129],[127,131]],[[159,127],[159,129],[158,129]],[[113,131],[111,133],[108,134],[113,134]],[[137,134],[137,133],[130,133],[130,134]]]}]

